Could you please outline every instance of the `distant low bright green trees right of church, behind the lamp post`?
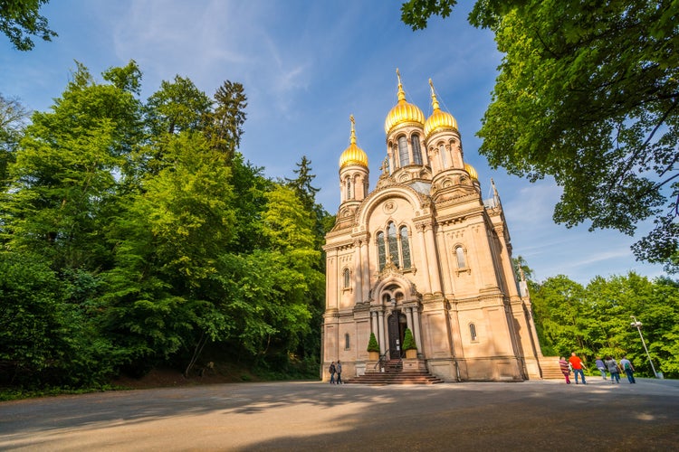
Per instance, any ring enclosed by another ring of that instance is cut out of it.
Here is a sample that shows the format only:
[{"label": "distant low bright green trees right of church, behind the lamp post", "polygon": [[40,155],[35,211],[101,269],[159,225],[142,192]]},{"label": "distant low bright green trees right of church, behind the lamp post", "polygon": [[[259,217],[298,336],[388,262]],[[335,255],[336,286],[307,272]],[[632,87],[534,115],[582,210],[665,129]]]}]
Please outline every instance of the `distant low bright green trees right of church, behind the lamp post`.
[{"label": "distant low bright green trees right of church, behind the lamp post", "polygon": [[618,359],[625,354],[636,371],[653,376],[646,351],[631,315],[642,322],[642,334],[655,368],[679,377],[677,322],[679,282],[649,281],[635,273],[609,279],[597,277],[587,287],[565,276],[531,283],[531,303],[543,353],[571,352],[590,364],[597,356]]}]

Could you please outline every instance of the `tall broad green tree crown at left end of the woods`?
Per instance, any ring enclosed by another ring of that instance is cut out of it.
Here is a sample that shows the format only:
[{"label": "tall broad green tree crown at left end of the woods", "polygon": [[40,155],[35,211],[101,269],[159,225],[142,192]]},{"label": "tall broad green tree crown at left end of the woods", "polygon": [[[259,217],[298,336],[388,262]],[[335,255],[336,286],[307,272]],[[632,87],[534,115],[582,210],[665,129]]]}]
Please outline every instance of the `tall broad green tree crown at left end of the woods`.
[{"label": "tall broad green tree crown at left end of the woods", "polygon": [[94,269],[110,264],[103,232],[117,209],[117,175],[139,139],[139,101],[77,64],[62,97],[51,112],[33,114],[15,151],[3,239],[53,268]]}]

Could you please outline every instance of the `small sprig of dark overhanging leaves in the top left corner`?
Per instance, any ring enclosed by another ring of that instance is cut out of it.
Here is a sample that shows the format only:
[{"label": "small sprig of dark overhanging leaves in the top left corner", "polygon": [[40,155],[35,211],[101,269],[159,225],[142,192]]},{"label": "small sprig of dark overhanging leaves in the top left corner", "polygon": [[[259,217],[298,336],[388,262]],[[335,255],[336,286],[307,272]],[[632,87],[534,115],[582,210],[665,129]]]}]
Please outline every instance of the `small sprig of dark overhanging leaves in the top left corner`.
[{"label": "small sprig of dark overhanging leaves in the top left corner", "polygon": [[0,0],[0,31],[5,33],[18,51],[34,47],[31,35],[52,41],[57,33],[47,26],[47,19],[39,14],[40,6],[50,0]]}]

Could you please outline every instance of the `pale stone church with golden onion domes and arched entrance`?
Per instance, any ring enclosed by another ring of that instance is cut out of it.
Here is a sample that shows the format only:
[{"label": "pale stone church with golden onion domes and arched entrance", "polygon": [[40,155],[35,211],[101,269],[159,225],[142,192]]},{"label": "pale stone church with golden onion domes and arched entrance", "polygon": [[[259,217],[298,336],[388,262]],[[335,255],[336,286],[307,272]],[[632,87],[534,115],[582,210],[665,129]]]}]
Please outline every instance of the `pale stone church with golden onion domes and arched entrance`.
[{"label": "pale stone church with golden onion domes and arched entrance", "polygon": [[[323,247],[323,380],[338,360],[343,379],[380,372],[387,361],[443,381],[540,379],[531,300],[512,265],[500,196],[493,184],[483,199],[432,81],[428,118],[406,101],[398,71],[397,81],[375,189],[353,116],[339,157],[339,210]],[[379,356],[368,353],[371,334]],[[414,357],[402,349],[406,334]]]}]

